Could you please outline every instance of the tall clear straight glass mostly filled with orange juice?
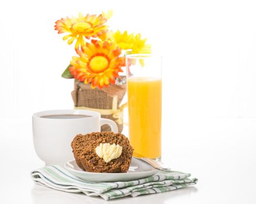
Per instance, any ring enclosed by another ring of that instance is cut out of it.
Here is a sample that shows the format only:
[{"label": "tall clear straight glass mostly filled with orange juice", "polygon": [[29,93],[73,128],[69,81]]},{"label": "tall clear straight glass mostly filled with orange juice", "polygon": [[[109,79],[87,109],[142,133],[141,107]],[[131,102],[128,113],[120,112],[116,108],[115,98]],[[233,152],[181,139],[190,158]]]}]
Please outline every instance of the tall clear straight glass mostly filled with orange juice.
[{"label": "tall clear straight glass mostly filled with orange juice", "polygon": [[134,156],[161,158],[161,57],[126,56],[129,139]]}]

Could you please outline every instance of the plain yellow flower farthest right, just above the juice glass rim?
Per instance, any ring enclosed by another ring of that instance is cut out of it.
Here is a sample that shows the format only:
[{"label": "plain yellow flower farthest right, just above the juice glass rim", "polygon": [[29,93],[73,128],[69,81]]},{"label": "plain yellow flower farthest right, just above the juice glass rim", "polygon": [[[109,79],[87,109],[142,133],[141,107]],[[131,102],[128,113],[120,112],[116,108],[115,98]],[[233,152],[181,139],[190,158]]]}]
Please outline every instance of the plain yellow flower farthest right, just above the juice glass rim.
[{"label": "plain yellow flower farthest right, just above the juice glass rim", "polygon": [[134,37],[134,43],[131,53],[133,54],[150,54],[151,46],[146,44],[147,38],[141,39],[141,34],[138,33]]}]

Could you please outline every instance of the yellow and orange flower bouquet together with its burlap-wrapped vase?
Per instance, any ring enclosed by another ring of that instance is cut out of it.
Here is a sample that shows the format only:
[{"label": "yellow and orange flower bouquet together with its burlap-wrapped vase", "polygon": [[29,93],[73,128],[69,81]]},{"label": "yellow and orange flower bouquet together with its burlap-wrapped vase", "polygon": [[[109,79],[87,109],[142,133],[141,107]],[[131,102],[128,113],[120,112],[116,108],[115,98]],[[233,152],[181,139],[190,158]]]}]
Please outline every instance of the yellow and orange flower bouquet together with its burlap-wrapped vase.
[{"label": "yellow and orange flower bouquet together with its burlap-wrapped vase", "polygon": [[[75,41],[77,56],[62,74],[75,79],[71,93],[75,108],[100,112],[103,118],[115,121],[122,132],[126,104],[120,103],[126,93],[126,78],[119,73],[123,72],[127,54],[147,54],[151,48],[140,33],[109,30],[106,22],[111,16],[111,11],[86,16],[79,13],[78,17],[57,20],[54,27],[59,34],[65,33],[63,40],[68,44]],[[105,125],[101,131],[110,128]]]}]

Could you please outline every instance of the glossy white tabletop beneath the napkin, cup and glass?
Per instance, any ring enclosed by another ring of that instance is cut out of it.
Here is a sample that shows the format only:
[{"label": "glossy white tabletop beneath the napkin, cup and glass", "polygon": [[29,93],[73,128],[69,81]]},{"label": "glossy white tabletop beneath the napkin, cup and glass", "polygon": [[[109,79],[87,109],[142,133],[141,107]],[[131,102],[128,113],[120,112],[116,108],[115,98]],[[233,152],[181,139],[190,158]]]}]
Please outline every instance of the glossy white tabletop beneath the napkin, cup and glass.
[{"label": "glossy white tabletop beneath the napkin, cup and glass", "polygon": [[[0,203],[107,203],[34,184],[30,171],[44,163],[33,150],[31,118],[0,122]],[[256,203],[256,118],[170,118],[163,126],[164,163],[198,184],[111,203]]]}]

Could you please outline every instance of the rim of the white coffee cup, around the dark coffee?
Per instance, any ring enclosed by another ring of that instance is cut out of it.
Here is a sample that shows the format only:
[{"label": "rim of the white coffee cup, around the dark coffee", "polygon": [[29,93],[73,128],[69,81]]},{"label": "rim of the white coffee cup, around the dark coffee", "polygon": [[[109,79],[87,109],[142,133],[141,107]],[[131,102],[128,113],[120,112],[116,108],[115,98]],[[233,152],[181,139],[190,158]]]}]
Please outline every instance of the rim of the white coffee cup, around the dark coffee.
[{"label": "rim of the white coffee cup, around the dark coffee", "polygon": [[[81,119],[92,119],[96,117],[101,117],[101,114],[96,111],[89,111],[89,110],[81,110],[81,109],[55,109],[55,110],[46,110],[46,111],[40,111],[40,112],[35,112],[32,117],[34,118],[40,118],[44,120],[60,120],[59,118],[41,118],[44,115],[54,115],[54,114],[74,114],[74,115],[89,115],[91,117],[88,118],[67,118],[65,121],[70,121],[70,120],[81,120]],[[62,119],[61,119],[62,120]]]}]

